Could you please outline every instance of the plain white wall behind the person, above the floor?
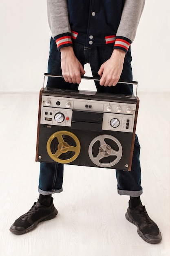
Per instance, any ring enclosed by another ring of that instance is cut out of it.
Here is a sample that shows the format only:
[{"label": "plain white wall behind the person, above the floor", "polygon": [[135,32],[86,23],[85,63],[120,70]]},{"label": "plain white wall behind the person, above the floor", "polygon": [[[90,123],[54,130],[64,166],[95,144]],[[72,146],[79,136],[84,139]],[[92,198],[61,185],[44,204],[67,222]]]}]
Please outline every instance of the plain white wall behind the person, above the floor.
[{"label": "plain white wall behind the person, above the floor", "polygon": [[[169,0],[146,0],[132,44],[133,80],[139,82],[139,91],[170,91],[169,8]],[[51,37],[46,1],[2,0],[0,26],[0,91],[39,91]],[[79,88],[95,89],[90,81],[82,81]]]}]

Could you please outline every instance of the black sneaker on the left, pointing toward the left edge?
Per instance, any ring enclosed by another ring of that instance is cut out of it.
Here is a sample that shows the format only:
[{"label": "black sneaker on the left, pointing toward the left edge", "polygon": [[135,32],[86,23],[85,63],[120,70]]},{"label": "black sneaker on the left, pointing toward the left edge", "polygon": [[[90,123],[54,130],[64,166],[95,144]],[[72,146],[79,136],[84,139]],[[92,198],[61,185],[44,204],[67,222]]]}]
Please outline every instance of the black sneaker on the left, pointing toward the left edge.
[{"label": "black sneaker on the left, pointing toward the left edge", "polygon": [[22,235],[34,229],[40,222],[51,220],[55,218],[56,215],[57,209],[54,207],[53,198],[48,207],[43,206],[37,201],[27,213],[15,220],[9,230],[15,235]]}]

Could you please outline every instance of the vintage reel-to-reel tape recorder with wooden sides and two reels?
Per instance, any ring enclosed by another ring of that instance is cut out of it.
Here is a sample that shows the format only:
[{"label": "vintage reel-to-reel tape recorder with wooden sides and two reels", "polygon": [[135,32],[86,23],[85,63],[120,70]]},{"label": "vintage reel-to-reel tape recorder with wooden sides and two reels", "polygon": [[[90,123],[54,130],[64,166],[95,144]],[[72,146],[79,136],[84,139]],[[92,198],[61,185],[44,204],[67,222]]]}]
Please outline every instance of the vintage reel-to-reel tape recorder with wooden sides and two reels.
[{"label": "vintage reel-to-reel tape recorder with wooden sides and two reels", "polygon": [[135,95],[42,88],[36,161],[130,171],[138,107]]}]

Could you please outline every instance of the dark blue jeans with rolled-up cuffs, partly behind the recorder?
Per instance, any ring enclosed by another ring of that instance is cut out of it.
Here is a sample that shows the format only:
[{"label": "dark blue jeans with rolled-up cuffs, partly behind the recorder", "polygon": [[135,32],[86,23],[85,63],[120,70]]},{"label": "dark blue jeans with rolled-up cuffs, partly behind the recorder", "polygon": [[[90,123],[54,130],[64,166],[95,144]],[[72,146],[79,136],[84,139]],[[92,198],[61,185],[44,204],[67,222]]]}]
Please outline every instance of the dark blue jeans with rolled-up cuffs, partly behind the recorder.
[{"label": "dark blue jeans with rolled-up cuffs, partly behind the recorder", "polygon": [[[75,56],[79,59],[83,65],[89,63],[91,71],[94,77],[99,76],[97,74],[100,66],[110,58],[113,47],[112,46],[100,46],[100,47],[86,47],[79,43],[73,43],[73,49]],[[131,68],[131,53],[130,48],[126,54],[124,67],[120,79],[126,81],[132,81],[132,68]],[[61,54],[57,51],[55,41],[51,38],[50,42],[50,55],[48,63],[48,72],[52,74],[62,74],[61,70]],[[112,87],[104,87],[99,85],[98,81],[95,81],[95,85],[98,92],[109,93],[123,93],[132,94],[132,85],[117,84]],[[49,77],[47,81],[47,87],[51,88],[64,88],[67,90],[78,90],[78,84],[66,83],[62,78]],[[141,168],[139,161],[140,145],[135,136],[135,146],[132,158],[131,171],[116,170],[117,177],[117,191],[119,195],[140,196],[142,193],[141,187]],[[48,195],[51,193],[60,193],[62,191],[63,182],[63,164],[55,163],[41,163],[40,164],[40,179],[39,179],[39,193],[42,195]]]}]

